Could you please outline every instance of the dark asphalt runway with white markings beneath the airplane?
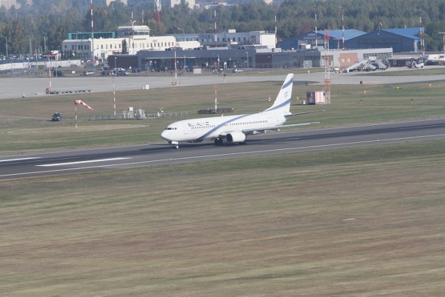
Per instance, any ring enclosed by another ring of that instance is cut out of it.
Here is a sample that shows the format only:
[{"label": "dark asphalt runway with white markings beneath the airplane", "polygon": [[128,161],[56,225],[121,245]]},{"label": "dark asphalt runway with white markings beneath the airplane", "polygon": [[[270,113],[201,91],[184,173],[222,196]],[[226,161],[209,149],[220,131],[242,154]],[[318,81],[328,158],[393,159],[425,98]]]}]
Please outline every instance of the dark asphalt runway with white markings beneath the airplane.
[{"label": "dark asphalt runway with white markings beneath the airplane", "polygon": [[131,169],[428,139],[445,139],[445,118],[319,130],[284,130],[251,136],[247,145],[214,146],[213,142],[201,142],[180,144],[179,149],[175,149],[170,144],[159,142],[8,155],[0,158],[0,179]]}]

